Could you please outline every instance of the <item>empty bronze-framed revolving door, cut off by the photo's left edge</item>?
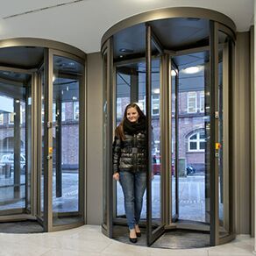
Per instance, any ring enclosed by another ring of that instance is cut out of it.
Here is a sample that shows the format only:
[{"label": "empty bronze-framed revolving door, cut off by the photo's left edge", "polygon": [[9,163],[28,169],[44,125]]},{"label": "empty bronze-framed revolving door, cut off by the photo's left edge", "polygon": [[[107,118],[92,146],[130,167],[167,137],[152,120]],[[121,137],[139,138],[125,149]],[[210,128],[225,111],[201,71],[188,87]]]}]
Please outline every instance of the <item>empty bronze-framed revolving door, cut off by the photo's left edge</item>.
[{"label": "empty bronze-framed revolving door, cut off by the photo's left edge", "polygon": [[43,231],[84,224],[85,54],[42,39],[5,45],[0,219],[36,219]]}]

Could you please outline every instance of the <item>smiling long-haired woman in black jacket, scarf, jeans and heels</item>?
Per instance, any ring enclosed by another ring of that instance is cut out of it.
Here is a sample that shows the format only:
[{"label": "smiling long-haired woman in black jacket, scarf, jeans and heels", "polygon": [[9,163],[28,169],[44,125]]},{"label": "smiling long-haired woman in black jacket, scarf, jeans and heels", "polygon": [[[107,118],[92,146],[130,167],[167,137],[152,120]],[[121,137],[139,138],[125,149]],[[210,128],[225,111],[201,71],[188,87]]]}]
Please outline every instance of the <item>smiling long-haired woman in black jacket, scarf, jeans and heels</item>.
[{"label": "smiling long-haired woman in black jacket, scarf, jeans and heels", "polygon": [[113,178],[124,192],[124,209],[130,241],[141,236],[139,219],[146,190],[146,116],[135,103],[126,106],[124,117],[115,131]]}]

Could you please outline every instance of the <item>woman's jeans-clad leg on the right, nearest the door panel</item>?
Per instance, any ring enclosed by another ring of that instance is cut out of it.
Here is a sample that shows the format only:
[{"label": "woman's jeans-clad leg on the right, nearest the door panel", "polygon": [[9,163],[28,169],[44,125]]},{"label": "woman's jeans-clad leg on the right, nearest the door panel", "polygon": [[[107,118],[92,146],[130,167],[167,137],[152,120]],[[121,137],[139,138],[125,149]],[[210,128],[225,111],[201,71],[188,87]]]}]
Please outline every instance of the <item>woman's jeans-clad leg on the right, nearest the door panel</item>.
[{"label": "woman's jeans-clad leg on the right, nearest the door panel", "polygon": [[146,190],[146,172],[135,174],[135,224],[139,224],[143,204],[143,196]]}]

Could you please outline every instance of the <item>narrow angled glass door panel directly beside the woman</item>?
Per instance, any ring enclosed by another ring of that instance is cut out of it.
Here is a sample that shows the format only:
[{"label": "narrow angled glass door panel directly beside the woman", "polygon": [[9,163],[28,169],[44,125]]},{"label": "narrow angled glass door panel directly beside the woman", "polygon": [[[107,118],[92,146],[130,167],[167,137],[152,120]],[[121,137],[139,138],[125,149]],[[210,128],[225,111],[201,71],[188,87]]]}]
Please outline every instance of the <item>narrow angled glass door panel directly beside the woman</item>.
[{"label": "narrow angled glass door panel directly beside the woman", "polygon": [[[162,52],[159,39],[153,34],[152,28],[146,26],[146,117],[148,132],[148,170],[146,190],[147,210],[147,245],[160,238],[164,232],[162,212],[162,161],[161,142],[161,82]],[[160,56],[160,57],[159,57]],[[167,86],[167,85],[166,85]],[[165,170],[168,171],[168,170]]]}]

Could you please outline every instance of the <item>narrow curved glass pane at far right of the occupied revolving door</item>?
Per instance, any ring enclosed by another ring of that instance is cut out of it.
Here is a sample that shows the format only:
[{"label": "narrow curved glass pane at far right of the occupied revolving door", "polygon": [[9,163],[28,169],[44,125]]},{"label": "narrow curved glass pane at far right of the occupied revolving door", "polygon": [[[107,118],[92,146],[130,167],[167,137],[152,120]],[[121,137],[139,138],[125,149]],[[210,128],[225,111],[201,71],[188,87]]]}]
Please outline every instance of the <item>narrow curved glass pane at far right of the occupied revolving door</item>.
[{"label": "narrow curved glass pane at far right of the occupied revolving door", "polygon": [[229,97],[228,97],[228,37],[219,32],[218,51],[218,210],[219,235],[230,232],[230,188],[229,188]]}]

